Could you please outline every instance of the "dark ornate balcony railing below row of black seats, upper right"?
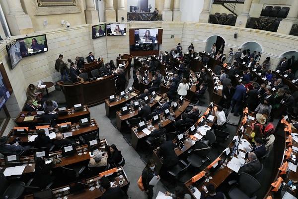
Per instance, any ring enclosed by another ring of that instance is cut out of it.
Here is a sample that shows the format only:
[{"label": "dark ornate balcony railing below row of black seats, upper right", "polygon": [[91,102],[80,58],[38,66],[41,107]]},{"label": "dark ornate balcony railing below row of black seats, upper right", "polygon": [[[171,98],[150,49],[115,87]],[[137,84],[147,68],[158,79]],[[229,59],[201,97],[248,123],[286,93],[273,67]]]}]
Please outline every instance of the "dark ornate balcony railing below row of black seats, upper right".
[{"label": "dark ornate balcony railing below row of black seats, upper right", "polygon": [[280,20],[250,17],[247,20],[246,27],[276,32],[278,29],[279,23],[280,23]]}]

